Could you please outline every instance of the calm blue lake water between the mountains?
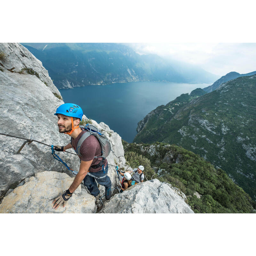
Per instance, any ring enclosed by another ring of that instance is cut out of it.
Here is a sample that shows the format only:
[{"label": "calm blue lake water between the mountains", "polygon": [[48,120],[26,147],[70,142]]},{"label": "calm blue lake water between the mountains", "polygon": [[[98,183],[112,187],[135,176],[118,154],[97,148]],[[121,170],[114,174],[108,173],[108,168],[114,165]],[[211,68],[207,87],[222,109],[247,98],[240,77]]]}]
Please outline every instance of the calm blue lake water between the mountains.
[{"label": "calm blue lake water between the mountains", "polygon": [[108,124],[123,140],[132,142],[136,128],[150,111],[165,105],[182,93],[210,84],[131,82],[90,85],[59,90],[65,103],[79,105],[87,118]]}]

